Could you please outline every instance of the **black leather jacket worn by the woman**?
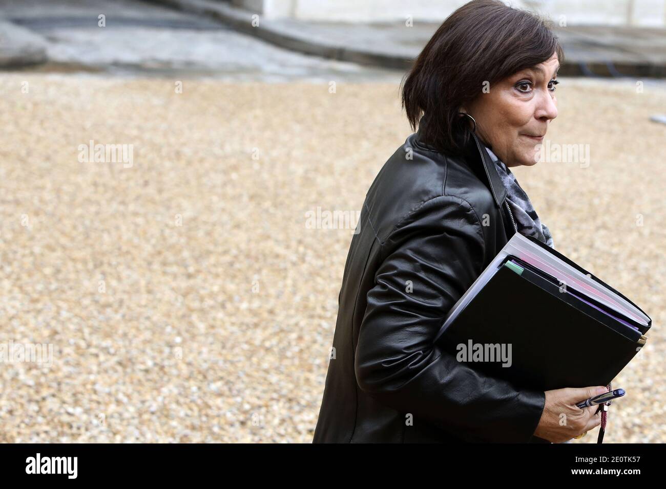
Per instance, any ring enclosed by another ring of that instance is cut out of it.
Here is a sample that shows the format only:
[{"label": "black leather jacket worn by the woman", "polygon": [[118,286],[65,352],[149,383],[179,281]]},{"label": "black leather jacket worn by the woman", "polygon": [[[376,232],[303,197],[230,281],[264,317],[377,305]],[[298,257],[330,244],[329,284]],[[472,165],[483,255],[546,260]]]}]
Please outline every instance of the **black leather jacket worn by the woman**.
[{"label": "black leather jacket worn by the woman", "polygon": [[368,190],[313,442],[543,442],[532,436],[543,392],[486,377],[433,342],[516,228],[476,136],[466,157],[421,136],[407,138]]}]

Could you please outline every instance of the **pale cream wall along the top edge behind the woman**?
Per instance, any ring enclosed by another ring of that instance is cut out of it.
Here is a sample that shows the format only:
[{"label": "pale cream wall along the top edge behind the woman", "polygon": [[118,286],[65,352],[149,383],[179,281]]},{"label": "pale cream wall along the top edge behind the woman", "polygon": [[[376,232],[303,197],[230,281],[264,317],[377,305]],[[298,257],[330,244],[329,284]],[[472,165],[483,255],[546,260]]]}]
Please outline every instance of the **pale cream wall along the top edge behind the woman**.
[{"label": "pale cream wall along the top edge behind the woman", "polygon": [[[267,19],[387,22],[406,19],[443,21],[466,0],[231,0]],[[567,25],[666,27],[666,0],[507,0]]]}]

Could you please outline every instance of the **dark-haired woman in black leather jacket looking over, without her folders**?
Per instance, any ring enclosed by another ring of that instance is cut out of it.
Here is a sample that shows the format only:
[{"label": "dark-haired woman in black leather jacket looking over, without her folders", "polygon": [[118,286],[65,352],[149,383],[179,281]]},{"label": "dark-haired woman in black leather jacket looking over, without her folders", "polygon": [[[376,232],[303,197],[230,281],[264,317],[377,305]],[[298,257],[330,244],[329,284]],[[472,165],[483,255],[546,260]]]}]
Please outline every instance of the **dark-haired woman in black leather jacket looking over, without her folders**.
[{"label": "dark-haired woman in black leather jacket looking over, without her folders", "polygon": [[402,88],[418,132],[366,196],[314,442],[564,442],[599,424],[575,403],[604,387],[518,389],[434,344],[514,232],[553,244],[509,167],[537,160],[561,59],[540,19],[494,0],[455,11],[418,56]]}]

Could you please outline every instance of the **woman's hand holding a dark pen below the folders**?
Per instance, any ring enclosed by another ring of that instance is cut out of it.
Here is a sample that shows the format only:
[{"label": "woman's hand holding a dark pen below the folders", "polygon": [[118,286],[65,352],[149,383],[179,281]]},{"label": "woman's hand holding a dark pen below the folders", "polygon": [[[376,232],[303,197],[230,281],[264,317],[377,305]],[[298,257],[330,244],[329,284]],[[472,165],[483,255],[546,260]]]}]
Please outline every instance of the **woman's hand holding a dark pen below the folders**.
[{"label": "woman's hand holding a dark pen below the folders", "polygon": [[599,406],[581,409],[576,407],[576,403],[607,391],[605,387],[567,387],[545,391],[545,406],[534,435],[549,442],[561,443],[599,426],[601,416],[595,416]]}]

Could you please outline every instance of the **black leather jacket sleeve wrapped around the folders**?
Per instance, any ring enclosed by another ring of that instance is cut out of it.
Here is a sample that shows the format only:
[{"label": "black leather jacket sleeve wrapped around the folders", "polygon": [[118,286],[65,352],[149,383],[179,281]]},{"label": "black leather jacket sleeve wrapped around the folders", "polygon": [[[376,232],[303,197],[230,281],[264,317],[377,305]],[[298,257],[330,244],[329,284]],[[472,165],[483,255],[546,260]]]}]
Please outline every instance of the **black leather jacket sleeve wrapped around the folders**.
[{"label": "black leather jacket sleeve wrapped around the folders", "polygon": [[433,343],[482,272],[484,250],[478,216],[455,196],[428,200],[398,223],[368,292],[356,380],[380,403],[411,413],[414,424],[428,420],[470,442],[529,442],[545,394],[486,377]]}]

